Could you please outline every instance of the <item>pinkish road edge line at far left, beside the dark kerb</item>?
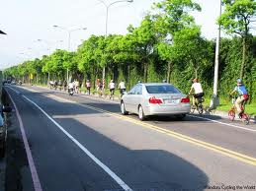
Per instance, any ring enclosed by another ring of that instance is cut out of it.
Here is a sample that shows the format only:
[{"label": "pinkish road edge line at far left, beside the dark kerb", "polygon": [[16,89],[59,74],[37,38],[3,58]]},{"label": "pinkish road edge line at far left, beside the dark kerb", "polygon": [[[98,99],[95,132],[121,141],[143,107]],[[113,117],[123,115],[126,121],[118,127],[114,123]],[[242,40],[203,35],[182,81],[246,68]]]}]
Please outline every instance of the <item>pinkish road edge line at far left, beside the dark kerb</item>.
[{"label": "pinkish road edge line at far left, beside the dark kerb", "polygon": [[[13,90],[13,89],[11,88],[11,90]],[[27,139],[27,136],[26,136],[26,133],[25,133],[25,128],[24,128],[24,125],[23,125],[22,117],[20,115],[18,107],[15,104],[12,96],[10,94],[8,94],[8,95],[9,95],[10,99],[13,102],[13,105],[14,105],[15,111],[16,111],[16,115],[17,115],[17,118],[18,118],[18,121],[19,121],[19,124],[20,124],[20,129],[21,129],[21,132],[22,132],[22,138],[23,138],[27,158],[28,158],[28,161],[29,161],[29,166],[30,166],[31,173],[32,173],[32,180],[33,180],[35,191],[43,191],[42,186],[41,186],[41,182],[40,182],[40,178],[39,178],[39,175],[38,175],[38,172],[37,172],[37,168],[36,168],[34,159],[32,157],[29,142],[28,142],[28,139]]]}]

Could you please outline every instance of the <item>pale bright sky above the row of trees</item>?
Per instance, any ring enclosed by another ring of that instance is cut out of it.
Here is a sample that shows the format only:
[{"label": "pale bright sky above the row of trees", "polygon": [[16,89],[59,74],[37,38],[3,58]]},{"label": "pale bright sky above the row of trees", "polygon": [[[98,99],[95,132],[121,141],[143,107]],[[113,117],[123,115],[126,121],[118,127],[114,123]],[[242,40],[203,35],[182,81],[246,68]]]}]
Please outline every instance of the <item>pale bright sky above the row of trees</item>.
[{"label": "pale bright sky above the row of trees", "polygon": [[[110,4],[116,0],[105,0]],[[127,33],[128,25],[139,26],[153,2],[133,0],[117,3],[109,11],[109,33]],[[203,35],[214,38],[219,0],[195,0],[202,6],[201,13],[193,13]],[[68,32],[53,28],[57,25],[71,32],[71,50],[91,34],[105,33],[106,8],[98,0],[0,0],[0,69],[28,59],[49,54],[56,48],[67,49]],[[39,41],[39,39],[42,39]]]}]

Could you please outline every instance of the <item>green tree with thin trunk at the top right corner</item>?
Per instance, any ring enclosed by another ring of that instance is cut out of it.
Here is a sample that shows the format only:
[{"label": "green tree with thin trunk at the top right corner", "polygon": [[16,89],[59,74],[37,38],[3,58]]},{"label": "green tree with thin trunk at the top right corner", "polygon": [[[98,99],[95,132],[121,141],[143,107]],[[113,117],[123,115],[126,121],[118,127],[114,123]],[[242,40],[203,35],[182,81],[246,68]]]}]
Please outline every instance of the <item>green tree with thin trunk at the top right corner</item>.
[{"label": "green tree with thin trunk at the top right corner", "polygon": [[227,33],[238,34],[242,37],[240,78],[243,79],[249,32],[256,19],[256,2],[255,0],[223,0],[222,3],[225,6],[225,11],[218,18],[218,24]]}]

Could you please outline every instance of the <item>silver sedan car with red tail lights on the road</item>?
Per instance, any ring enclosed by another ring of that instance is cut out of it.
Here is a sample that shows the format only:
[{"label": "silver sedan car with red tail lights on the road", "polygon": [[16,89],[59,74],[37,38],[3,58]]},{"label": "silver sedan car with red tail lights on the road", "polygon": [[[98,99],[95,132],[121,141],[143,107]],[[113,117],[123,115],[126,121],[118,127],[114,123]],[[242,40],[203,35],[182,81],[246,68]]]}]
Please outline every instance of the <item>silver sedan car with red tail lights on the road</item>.
[{"label": "silver sedan car with red tail lights on the road", "polygon": [[150,115],[174,115],[184,118],[190,112],[190,98],[168,83],[139,83],[121,99],[121,112]]}]

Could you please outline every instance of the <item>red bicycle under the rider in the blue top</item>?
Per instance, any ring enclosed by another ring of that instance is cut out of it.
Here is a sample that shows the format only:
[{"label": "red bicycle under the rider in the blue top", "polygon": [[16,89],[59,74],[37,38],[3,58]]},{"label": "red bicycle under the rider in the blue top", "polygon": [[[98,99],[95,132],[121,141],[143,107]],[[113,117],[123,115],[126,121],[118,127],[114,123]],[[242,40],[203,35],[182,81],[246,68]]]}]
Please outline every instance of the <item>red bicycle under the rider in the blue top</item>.
[{"label": "red bicycle under the rider in the blue top", "polygon": [[[234,118],[235,118],[235,111],[237,110],[236,107],[235,107],[235,100],[236,100],[237,97],[235,96],[232,96],[232,107],[230,108],[230,110],[228,111],[228,118],[231,120],[231,121],[234,121]],[[242,104],[241,104],[241,114],[238,114],[238,117],[239,119],[241,119],[246,125],[249,124],[250,122],[250,117],[247,113],[244,112],[244,105],[245,105],[245,102],[246,101],[243,101]]]}]

